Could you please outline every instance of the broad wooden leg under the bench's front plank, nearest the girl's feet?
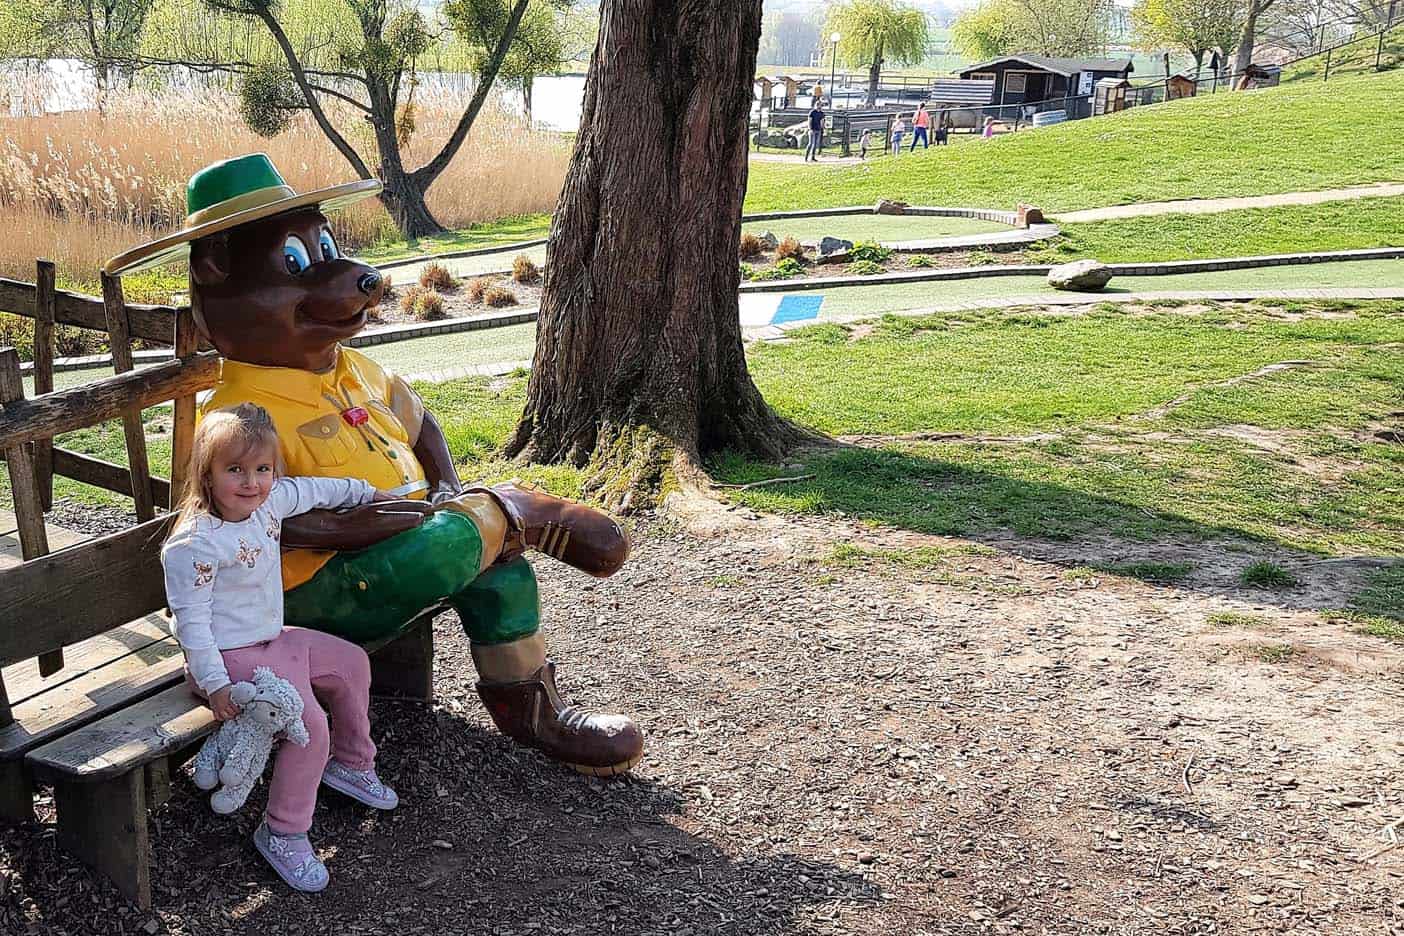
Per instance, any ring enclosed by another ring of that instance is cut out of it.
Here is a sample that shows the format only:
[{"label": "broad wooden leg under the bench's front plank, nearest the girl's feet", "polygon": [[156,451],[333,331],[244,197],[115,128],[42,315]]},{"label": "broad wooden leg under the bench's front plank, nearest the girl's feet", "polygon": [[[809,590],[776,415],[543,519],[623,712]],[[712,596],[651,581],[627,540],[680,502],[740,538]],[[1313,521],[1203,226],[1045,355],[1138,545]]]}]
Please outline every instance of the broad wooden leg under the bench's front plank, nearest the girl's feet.
[{"label": "broad wooden leg under the bench's front plank, nearest the girl's feet", "polygon": [[146,772],[101,783],[55,783],[59,848],[110,878],[142,909],[152,908],[152,849],[146,834]]}]

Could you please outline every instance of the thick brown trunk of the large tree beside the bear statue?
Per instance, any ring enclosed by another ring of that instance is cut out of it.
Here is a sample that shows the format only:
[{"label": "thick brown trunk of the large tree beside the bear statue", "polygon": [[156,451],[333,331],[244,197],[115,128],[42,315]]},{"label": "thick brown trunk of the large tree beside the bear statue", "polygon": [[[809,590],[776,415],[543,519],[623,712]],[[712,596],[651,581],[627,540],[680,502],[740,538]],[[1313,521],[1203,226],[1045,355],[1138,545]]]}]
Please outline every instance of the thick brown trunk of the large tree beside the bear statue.
[{"label": "thick brown trunk of the large tree beside the bear statue", "polygon": [[746,369],[737,244],[761,0],[605,0],[508,455],[628,509],[802,432]]}]

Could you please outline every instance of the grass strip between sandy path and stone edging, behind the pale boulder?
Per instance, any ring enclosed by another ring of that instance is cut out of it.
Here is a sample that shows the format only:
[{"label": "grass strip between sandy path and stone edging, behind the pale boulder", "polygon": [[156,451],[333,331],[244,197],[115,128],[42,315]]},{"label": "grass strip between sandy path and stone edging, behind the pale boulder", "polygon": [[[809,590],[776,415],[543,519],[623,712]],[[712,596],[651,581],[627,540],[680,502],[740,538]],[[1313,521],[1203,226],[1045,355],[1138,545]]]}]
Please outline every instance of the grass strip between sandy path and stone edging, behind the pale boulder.
[{"label": "grass strip between sandy path and stone edging, behind the pale boulder", "polygon": [[1097,257],[1136,264],[1317,250],[1404,247],[1404,198],[1251,208],[1216,215],[1158,215],[1063,225],[1063,236],[1029,248],[1031,262]]}]

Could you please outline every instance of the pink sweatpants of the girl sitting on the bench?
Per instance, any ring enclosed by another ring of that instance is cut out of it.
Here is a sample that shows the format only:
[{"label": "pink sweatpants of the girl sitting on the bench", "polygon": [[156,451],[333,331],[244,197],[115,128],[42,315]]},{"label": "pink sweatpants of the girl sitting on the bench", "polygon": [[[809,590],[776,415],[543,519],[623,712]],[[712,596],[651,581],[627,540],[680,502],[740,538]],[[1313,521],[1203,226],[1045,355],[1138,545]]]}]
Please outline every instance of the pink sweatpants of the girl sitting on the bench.
[{"label": "pink sweatpants of the girl sitting on the bench", "polygon": [[[306,832],[329,752],[352,770],[375,766],[368,714],[371,658],[348,640],[305,627],[284,627],[272,640],[225,650],[222,655],[232,681],[253,681],[256,667],[268,667],[302,696],[302,721],[312,741],[305,748],[291,741],[278,745],[268,784],[268,828],[279,835]],[[188,671],[185,683],[205,697]],[[326,711],[319,700],[326,703]]]}]

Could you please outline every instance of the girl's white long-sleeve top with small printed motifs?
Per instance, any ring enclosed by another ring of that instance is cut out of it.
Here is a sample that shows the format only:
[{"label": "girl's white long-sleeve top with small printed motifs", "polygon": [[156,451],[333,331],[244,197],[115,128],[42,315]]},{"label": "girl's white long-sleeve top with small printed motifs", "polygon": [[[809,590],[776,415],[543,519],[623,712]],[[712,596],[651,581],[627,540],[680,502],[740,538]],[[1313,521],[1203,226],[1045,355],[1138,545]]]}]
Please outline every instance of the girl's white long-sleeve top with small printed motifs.
[{"label": "girl's white long-sleeve top with small printed motifs", "polygon": [[229,685],[220,650],[272,640],[282,631],[282,521],[319,508],[366,504],[375,488],[358,479],[282,477],[268,500],[237,523],[197,516],[161,547],[171,633],[195,683],[209,695]]}]

